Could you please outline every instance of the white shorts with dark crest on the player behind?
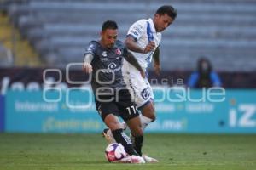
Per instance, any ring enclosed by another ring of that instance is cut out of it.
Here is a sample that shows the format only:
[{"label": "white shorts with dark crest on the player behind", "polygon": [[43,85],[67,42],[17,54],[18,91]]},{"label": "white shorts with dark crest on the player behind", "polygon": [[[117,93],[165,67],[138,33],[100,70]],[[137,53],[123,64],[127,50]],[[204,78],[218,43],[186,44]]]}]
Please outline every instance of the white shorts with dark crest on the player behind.
[{"label": "white shorts with dark crest on the player behind", "polygon": [[138,109],[154,100],[154,94],[147,77],[143,78],[140,71],[125,59],[122,72],[125,84],[129,88],[131,96],[134,97]]}]

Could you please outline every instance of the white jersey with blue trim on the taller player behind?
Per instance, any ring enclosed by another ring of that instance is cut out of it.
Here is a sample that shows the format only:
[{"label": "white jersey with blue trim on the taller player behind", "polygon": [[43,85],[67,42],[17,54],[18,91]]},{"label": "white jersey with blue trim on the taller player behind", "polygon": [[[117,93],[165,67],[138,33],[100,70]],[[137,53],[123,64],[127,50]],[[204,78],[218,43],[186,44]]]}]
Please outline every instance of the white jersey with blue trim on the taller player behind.
[{"label": "white jersey with blue trim on the taller player behind", "polygon": [[[154,28],[154,23],[152,19],[148,20],[137,20],[130,28],[127,33],[127,36],[132,36],[136,39],[137,45],[141,48],[146,48],[148,45],[148,42],[154,41],[155,48],[154,50],[160,45],[161,41],[161,33],[156,32]],[[148,67],[148,64],[152,60],[152,56],[154,54],[154,51],[148,52],[148,54],[141,54],[131,51],[131,54],[135,56],[138,63],[141,65],[141,67],[146,70]]]}]

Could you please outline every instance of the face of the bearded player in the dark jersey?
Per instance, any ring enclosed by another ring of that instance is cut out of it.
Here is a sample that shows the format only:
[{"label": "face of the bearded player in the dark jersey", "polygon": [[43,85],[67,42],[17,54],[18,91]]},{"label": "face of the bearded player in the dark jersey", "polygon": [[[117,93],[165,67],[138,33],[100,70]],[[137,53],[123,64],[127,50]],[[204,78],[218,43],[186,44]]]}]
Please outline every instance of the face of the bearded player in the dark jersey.
[{"label": "face of the bearded player in the dark jersey", "polygon": [[113,48],[114,42],[116,41],[118,36],[118,30],[107,29],[101,32],[101,36],[102,45],[105,48]]}]

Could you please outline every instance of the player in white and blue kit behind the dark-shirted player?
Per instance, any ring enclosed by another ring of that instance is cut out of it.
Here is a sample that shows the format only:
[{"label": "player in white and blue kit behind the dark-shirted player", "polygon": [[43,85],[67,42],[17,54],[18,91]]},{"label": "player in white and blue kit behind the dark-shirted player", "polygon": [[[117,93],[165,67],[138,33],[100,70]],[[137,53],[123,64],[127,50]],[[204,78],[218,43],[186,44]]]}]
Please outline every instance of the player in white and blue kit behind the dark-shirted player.
[{"label": "player in white and blue kit behind the dark-shirted player", "polygon": [[[160,74],[160,41],[161,31],[164,31],[176,19],[177,11],[169,5],[161,6],[154,14],[154,18],[148,20],[137,20],[129,29],[125,39],[125,45],[135,56],[139,65],[146,72],[148,65],[154,59],[154,71]],[[126,85],[131,94],[135,96],[137,108],[141,111],[140,119],[142,127],[145,128],[155,120],[154,95],[147,77],[142,77],[129,62],[124,61],[122,68]],[[107,132],[105,132],[108,135]],[[105,135],[105,137],[106,137]],[[148,160],[147,160],[148,158]],[[146,157],[145,161],[156,161]]]}]

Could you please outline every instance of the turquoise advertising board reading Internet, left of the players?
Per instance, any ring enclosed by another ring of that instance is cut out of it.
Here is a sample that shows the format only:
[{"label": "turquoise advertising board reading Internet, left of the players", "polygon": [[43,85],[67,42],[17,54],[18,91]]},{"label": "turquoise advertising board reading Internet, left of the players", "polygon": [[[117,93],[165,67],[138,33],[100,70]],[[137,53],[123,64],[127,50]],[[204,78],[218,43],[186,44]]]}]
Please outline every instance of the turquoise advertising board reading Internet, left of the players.
[{"label": "turquoise advertising board reading Internet, left of the players", "polygon": [[[9,92],[6,131],[29,133],[98,133],[103,122],[94,103],[82,105],[88,95],[76,92]],[[73,97],[74,96],[74,97]],[[85,101],[86,102],[86,101]],[[84,108],[83,108],[84,107]]]}]

